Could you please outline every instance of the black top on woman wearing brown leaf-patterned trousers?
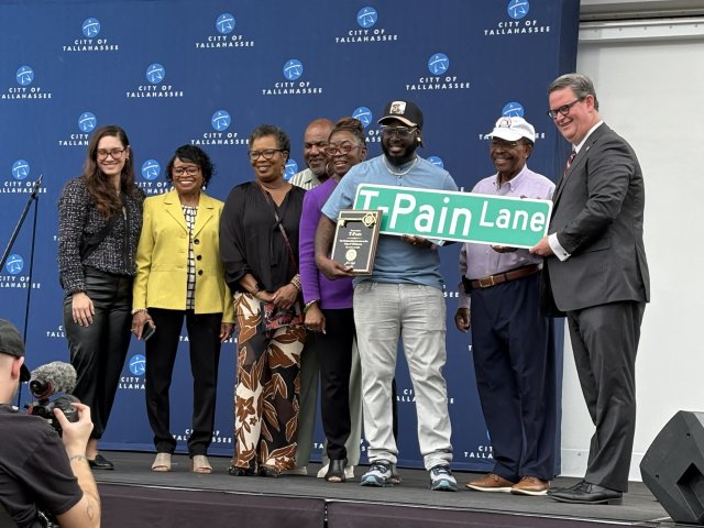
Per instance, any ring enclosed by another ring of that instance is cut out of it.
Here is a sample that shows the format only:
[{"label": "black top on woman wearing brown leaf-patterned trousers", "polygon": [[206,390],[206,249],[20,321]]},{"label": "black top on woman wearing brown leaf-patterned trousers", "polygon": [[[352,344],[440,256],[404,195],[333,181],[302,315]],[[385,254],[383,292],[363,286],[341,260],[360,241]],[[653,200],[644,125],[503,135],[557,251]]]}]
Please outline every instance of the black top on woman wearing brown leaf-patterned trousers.
[{"label": "black top on woman wearing brown leaf-patterned trousers", "polygon": [[[298,223],[305,194],[292,186],[276,207],[255,183],[238,185],[230,191],[220,217],[220,257],[232,293],[244,292],[239,280],[248,273],[267,292],[276,292],[298,273]],[[274,207],[286,230],[296,266],[288,256]]]}]

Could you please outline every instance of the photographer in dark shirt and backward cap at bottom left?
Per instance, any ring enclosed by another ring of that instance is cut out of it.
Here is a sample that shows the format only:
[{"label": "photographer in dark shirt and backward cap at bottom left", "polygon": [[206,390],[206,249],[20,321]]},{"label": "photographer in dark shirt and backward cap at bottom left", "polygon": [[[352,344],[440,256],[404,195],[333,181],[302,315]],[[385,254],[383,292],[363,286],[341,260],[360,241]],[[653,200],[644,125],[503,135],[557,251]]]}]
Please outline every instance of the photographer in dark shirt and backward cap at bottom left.
[{"label": "photographer in dark shirt and backward cap at bottom left", "polygon": [[98,527],[100,498],[86,459],[90,409],[74,404],[79,417],[74,424],[54,410],[62,439],[46,420],[11,405],[20,382],[29,378],[22,338],[0,319],[0,506],[19,528],[43,526],[40,509],[61,527]]}]

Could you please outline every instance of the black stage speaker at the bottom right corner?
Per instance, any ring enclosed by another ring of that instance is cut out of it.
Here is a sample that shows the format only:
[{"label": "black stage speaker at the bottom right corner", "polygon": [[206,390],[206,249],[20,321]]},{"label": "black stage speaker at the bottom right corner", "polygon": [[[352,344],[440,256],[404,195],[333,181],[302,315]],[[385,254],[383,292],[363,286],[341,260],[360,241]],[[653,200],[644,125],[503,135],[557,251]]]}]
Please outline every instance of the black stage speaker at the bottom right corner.
[{"label": "black stage speaker at the bottom right corner", "polygon": [[642,482],[675,522],[704,524],[704,413],[680,410],[640,462]]}]

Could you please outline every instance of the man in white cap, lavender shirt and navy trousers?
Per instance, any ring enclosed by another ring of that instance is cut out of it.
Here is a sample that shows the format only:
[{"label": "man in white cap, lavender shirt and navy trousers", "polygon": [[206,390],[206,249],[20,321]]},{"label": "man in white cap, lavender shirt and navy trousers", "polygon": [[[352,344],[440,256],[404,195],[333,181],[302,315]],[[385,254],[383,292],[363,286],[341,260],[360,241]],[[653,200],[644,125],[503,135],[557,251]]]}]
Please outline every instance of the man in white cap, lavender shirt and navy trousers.
[{"label": "man in white cap, lavender shirt and navy trousers", "polygon": [[[488,134],[497,173],[472,193],[552,199],[554,184],[526,162],[536,132],[501,118]],[[528,250],[464,244],[454,322],[472,330],[472,355],[494,468],[468,483],[481,492],[544,495],[554,474],[556,376],[552,320],[540,315],[542,260]]]}]

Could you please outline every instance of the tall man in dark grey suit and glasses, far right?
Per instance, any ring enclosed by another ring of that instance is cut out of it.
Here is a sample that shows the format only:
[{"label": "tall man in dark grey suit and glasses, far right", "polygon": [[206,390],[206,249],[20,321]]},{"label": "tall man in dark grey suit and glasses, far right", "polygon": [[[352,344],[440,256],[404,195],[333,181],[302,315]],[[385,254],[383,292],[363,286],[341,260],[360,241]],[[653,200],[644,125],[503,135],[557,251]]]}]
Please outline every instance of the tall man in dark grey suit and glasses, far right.
[{"label": "tall man in dark grey suit and glasses, far right", "polygon": [[530,251],[546,257],[544,305],[566,315],[582,392],[596,426],[584,480],[552,488],[549,496],[619,504],[628,491],[636,352],[650,296],[642,173],[630,145],[602,121],[591,79],[563,75],[548,95],[548,114],[573,154],[554,191],[549,234]]}]

